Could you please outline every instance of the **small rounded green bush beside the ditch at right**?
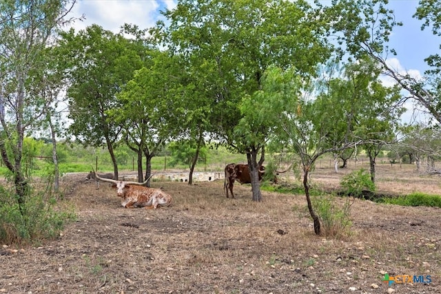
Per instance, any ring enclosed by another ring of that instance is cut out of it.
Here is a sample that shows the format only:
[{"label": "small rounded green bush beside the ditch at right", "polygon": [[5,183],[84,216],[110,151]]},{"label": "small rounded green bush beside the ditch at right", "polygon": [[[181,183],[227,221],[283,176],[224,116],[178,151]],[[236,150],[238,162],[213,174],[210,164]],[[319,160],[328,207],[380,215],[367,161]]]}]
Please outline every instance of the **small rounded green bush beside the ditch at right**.
[{"label": "small rounded green bush beside the ditch at right", "polygon": [[371,175],[365,169],[353,171],[340,181],[348,195],[361,197],[363,190],[375,191],[375,184],[371,181]]}]

